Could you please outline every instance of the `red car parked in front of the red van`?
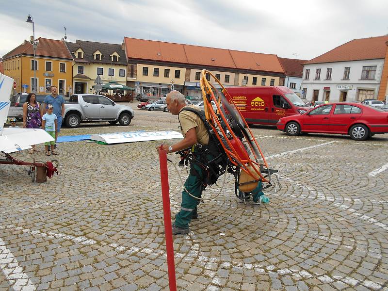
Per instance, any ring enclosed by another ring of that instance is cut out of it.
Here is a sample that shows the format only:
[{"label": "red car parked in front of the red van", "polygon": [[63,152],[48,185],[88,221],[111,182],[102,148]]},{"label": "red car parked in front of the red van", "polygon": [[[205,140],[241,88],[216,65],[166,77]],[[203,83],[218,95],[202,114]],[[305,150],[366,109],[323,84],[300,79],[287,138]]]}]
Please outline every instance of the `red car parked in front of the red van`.
[{"label": "red car parked in front of the red van", "polygon": [[280,118],[276,127],[292,136],[301,132],[339,133],[363,141],[388,133],[388,112],[360,103],[330,103],[302,115]]}]

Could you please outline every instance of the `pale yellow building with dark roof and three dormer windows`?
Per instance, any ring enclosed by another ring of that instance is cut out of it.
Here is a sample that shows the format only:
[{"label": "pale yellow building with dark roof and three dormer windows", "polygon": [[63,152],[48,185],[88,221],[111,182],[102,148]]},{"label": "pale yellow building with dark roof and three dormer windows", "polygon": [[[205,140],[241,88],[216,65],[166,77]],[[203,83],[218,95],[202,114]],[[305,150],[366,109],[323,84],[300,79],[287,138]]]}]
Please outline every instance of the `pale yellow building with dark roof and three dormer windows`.
[{"label": "pale yellow building with dark roof and three dormer windows", "polygon": [[[73,93],[94,93],[94,81],[127,85],[127,59],[122,45],[76,40],[65,42],[73,58]],[[109,92],[112,93],[112,92]]]}]

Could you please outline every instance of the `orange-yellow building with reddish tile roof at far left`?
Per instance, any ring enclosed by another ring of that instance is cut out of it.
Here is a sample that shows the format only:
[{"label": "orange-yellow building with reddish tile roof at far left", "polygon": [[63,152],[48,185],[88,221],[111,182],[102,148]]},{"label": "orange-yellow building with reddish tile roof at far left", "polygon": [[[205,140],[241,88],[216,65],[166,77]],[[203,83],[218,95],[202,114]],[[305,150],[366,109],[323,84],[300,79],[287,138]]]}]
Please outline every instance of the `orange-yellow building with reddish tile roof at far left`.
[{"label": "orange-yellow building with reddish tile roof at far left", "polygon": [[28,41],[5,54],[4,75],[16,81],[15,93],[45,95],[50,93],[50,86],[56,85],[59,94],[68,95],[72,90],[72,58],[68,50],[60,40],[40,37],[38,41],[35,63],[32,45]]}]

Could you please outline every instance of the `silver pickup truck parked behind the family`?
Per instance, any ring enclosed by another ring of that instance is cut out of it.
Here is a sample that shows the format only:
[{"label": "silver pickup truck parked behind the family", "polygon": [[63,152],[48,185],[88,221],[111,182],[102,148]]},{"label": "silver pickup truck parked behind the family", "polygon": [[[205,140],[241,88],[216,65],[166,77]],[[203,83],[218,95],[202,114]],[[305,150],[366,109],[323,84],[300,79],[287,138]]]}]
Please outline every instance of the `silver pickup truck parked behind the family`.
[{"label": "silver pickup truck parked behind the family", "polygon": [[134,116],[133,109],[125,105],[117,105],[111,99],[94,94],[71,95],[69,103],[65,103],[64,120],[66,126],[77,128],[82,120],[106,120],[110,124],[129,125]]}]

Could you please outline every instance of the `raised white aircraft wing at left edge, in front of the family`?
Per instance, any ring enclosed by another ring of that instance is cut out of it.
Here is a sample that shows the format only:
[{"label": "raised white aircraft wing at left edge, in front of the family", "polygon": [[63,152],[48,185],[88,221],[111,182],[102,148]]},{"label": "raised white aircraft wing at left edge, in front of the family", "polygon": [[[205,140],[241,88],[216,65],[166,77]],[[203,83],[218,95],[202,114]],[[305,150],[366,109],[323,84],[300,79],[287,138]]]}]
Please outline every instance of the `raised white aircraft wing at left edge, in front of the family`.
[{"label": "raised white aircraft wing at left edge, in front of the family", "polygon": [[0,152],[12,153],[53,140],[43,129],[3,129],[0,135]]}]

